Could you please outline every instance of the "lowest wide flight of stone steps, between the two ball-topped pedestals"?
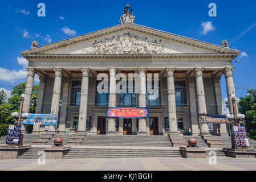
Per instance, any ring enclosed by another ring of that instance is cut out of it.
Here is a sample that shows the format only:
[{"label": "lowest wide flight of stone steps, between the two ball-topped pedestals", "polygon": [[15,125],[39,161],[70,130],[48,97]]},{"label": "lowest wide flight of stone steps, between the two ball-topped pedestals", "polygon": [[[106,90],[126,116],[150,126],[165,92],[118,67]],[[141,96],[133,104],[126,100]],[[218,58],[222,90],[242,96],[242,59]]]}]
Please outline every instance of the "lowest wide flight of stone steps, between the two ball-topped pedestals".
[{"label": "lowest wide flight of stone steps, between the two ball-topped pedestals", "polygon": [[124,148],[71,148],[64,159],[76,158],[178,158],[180,150]]}]

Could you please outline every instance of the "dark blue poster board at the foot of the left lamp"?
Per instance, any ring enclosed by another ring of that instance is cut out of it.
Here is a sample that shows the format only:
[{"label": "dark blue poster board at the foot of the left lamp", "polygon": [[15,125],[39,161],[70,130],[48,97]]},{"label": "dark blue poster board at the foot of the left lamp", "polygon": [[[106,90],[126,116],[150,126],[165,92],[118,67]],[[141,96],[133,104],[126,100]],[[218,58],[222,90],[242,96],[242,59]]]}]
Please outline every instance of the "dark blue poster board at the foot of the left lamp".
[{"label": "dark blue poster board at the foot of the left lamp", "polygon": [[6,143],[18,144],[20,134],[21,134],[21,125],[9,125]]}]

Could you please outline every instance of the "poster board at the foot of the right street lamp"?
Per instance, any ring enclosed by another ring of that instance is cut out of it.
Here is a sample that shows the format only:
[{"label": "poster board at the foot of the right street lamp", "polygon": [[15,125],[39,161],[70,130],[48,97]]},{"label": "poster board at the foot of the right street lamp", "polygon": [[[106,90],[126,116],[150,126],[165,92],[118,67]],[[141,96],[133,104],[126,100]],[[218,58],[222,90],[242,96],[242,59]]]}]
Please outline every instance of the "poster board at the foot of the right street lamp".
[{"label": "poster board at the foot of the right street lamp", "polygon": [[245,126],[234,126],[235,146],[249,146]]}]

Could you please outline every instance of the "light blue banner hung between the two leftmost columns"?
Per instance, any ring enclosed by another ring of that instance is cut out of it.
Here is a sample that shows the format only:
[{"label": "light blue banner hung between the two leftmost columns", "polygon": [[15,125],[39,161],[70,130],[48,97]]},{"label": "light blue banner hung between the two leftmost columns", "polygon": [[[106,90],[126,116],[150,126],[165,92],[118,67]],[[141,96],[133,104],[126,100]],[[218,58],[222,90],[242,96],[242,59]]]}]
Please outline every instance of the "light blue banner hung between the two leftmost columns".
[{"label": "light blue banner hung between the two leftmost columns", "polygon": [[58,114],[29,114],[27,119],[21,121],[25,125],[57,125]]}]

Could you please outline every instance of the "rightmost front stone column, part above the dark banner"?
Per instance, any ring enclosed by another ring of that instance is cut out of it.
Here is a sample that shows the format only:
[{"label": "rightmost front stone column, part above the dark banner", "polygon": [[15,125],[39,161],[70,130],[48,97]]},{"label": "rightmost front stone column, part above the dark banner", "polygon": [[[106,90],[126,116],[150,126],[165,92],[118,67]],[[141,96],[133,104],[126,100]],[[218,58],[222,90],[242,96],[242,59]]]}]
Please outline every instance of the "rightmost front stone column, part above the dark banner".
[{"label": "rightmost front stone column, part above the dark banner", "polygon": [[[234,80],[233,80],[233,68],[225,68],[224,69],[224,73],[225,73],[225,77],[226,77],[226,86],[227,86],[227,98],[229,100],[229,113],[230,114],[234,114],[233,111],[233,105],[232,105],[232,101],[231,101],[231,95],[234,94],[235,95],[235,85],[234,85]],[[237,101],[235,101],[237,102]],[[236,103],[237,105],[237,103]],[[237,113],[238,113],[238,107],[237,109]]]}]

